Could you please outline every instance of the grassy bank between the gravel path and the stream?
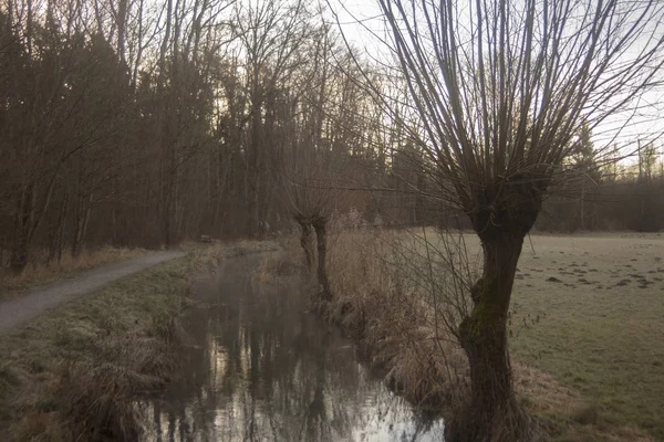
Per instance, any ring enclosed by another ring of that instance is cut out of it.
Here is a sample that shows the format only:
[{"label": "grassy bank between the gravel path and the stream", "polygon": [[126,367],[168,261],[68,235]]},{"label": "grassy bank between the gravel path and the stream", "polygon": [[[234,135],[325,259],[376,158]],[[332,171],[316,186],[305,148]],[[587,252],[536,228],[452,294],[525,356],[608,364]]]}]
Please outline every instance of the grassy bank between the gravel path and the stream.
[{"label": "grassy bank between the gravel path and the stream", "polygon": [[190,276],[227,253],[218,244],[190,252],[0,336],[0,434],[135,440],[135,399],[176,372]]}]

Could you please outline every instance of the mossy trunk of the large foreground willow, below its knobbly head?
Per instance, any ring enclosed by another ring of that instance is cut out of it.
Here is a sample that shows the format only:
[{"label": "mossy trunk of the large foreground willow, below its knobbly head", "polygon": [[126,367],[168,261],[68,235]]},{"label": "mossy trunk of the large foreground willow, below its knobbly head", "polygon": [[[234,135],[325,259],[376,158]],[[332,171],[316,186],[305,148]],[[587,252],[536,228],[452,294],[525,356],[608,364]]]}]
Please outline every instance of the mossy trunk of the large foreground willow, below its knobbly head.
[{"label": "mossy trunk of the large foreground willow, below its knobbly head", "polygon": [[471,288],[474,308],[459,326],[470,365],[471,401],[449,440],[519,440],[520,410],[515,401],[507,349],[507,315],[523,235],[496,229],[483,238],[484,273]]}]

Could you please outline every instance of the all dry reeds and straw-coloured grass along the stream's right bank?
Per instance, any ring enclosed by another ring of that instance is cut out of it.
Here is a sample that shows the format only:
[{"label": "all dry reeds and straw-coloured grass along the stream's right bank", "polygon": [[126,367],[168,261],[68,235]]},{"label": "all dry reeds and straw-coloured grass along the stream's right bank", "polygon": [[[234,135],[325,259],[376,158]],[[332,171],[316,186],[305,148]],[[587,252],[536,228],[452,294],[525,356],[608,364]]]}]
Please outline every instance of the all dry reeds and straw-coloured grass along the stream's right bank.
[{"label": "all dry reeds and straw-coloured grass along the stream's right bank", "polygon": [[[401,235],[381,229],[331,235],[328,271],[333,298],[329,303],[314,301],[314,306],[356,340],[367,362],[397,392],[421,408],[443,411],[448,417],[463,414],[459,410],[467,407],[469,397],[467,358],[452,333],[453,324],[434,317],[437,309],[423,293],[427,291],[418,290],[413,275],[408,275],[412,272],[406,266],[421,263],[408,263],[414,256],[407,253],[401,262],[394,259]],[[307,270],[297,239],[284,239],[281,246],[284,252],[263,260],[255,276],[257,282],[278,281],[292,269]],[[512,361],[512,371],[519,403],[513,414],[521,415],[518,421],[530,422],[525,440],[651,440],[642,431],[618,429],[592,419],[592,408],[584,404],[578,391],[560,386],[538,369]],[[496,431],[500,425],[506,423],[499,423]]]}]

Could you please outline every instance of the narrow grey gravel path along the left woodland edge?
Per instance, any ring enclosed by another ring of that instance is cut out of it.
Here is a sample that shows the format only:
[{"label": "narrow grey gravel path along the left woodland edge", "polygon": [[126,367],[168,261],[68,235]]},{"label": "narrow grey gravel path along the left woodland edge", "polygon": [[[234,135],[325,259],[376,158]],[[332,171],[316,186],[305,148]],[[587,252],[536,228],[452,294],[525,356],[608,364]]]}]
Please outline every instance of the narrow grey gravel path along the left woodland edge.
[{"label": "narrow grey gravel path along the left woodland edge", "polygon": [[134,260],[100,265],[71,280],[29,290],[19,298],[0,303],[0,335],[62,303],[93,293],[113,281],[184,255],[183,252],[151,253]]}]

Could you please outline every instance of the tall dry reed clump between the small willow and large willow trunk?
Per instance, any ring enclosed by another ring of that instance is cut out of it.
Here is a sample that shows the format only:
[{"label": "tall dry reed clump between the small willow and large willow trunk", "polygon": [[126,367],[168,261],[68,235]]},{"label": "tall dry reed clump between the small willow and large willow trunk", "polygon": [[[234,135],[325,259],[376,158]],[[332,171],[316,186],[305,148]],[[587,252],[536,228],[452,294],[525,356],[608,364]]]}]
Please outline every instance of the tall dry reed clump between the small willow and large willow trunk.
[{"label": "tall dry reed clump between the small willow and large willow trunk", "polygon": [[428,292],[405,267],[398,233],[350,231],[331,242],[334,297],[324,315],[360,339],[369,362],[411,401],[435,409],[461,401],[468,389],[465,355],[426,308]]}]

